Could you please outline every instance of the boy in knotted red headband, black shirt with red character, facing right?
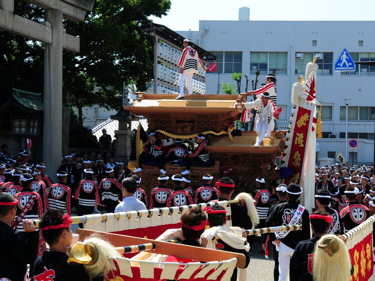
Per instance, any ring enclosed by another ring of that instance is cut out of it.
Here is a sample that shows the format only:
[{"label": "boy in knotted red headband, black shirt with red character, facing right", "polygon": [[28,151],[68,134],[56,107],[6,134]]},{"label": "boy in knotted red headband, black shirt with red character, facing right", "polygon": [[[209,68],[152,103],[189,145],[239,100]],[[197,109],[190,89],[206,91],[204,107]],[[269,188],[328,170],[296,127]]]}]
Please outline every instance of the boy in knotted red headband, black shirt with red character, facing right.
[{"label": "boy in knotted red headband, black shirt with red character, facing right", "polygon": [[34,263],[35,281],[90,280],[83,265],[68,265],[66,248],[73,240],[71,223],[72,218],[61,210],[47,210],[43,215],[39,227],[49,251],[45,251]]}]

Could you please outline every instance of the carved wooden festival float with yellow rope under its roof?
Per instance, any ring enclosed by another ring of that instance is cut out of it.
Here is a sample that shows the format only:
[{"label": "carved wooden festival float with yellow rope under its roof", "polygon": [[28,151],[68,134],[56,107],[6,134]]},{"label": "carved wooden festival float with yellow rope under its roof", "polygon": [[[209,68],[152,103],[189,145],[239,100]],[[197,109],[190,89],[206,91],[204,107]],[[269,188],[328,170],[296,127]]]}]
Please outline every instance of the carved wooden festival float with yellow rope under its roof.
[{"label": "carved wooden festival float with yellow rope under its roof", "polygon": [[[191,167],[185,177],[191,181],[193,188],[201,186],[205,173],[217,180],[229,168],[233,169],[229,176],[236,183],[235,193],[254,191],[257,176],[263,176],[267,184],[279,178],[279,170],[275,169],[273,159],[282,155],[285,132],[272,132],[270,138],[263,139],[260,147],[254,148],[257,139],[255,132],[234,131],[234,122],[240,119],[243,112],[243,108],[235,104],[245,103],[246,94],[192,94],[185,95],[182,100],[175,100],[175,94],[137,94],[133,106],[125,106],[124,109],[134,115],[147,117],[148,128],[162,134],[165,152],[175,138],[181,138],[189,145],[195,143],[198,133],[205,134],[206,148],[213,166]],[[137,175],[142,178],[141,187],[149,194],[157,185],[160,171],[152,166],[143,166],[142,169]],[[164,166],[168,175],[181,173],[185,169],[171,164]]]}]

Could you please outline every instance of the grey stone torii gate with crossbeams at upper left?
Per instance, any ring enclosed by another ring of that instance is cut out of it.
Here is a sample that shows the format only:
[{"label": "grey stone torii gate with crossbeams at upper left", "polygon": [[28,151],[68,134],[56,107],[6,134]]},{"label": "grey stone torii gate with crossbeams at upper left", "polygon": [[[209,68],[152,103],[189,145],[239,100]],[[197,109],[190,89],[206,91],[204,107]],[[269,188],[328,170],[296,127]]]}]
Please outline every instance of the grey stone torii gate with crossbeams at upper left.
[{"label": "grey stone torii gate with crossbeams at upper left", "polygon": [[[63,17],[84,21],[95,0],[26,0],[45,9],[42,24],[14,14],[14,0],[0,0],[0,29],[45,43],[43,161],[51,177],[62,157],[63,49],[80,51],[80,38],[66,34]],[[64,124],[68,126],[68,124]]]}]

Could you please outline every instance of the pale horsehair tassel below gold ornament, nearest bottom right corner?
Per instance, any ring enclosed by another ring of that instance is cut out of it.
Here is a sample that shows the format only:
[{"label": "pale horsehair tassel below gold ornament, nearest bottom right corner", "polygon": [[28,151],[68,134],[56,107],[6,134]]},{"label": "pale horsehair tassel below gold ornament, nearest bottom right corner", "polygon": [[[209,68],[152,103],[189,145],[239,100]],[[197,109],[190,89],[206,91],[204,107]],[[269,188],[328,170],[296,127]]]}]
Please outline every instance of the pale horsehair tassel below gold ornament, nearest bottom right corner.
[{"label": "pale horsehair tassel below gold ornament, nearest bottom right corner", "polygon": [[[318,245],[323,245],[323,241],[327,238],[335,239],[339,244],[339,249],[330,257],[326,251],[319,248]],[[348,249],[338,236],[324,235],[315,244],[314,264],[313,264],[313,278],[314,281],[343,281],[349,280],[351,274],[351,261]]]}]

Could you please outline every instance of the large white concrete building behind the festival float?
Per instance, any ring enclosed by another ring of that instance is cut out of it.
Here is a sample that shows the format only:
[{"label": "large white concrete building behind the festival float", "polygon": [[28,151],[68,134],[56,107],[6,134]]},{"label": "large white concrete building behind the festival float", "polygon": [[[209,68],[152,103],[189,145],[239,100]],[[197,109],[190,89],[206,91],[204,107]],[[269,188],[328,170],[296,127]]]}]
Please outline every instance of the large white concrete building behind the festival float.
[{"label": "large white concrete building behind the festival float", "polygon": [[[176,31],[218,57],[217,71],[206,75],[206,94],[220,93],[218,85],[233,82],[233,72],[249,75],[248,90],[252,90],[257,69],[261,72],[259,88],[266,74],[276,69],[278,107],[282,107],[278,126],[287,126],[292,85],[317,55],[317,100],[323,105],[323,138],[317,139],[317,158],[336,158],[338,153],[345,157],[347,147],[348,161],[372,163],[375,66],[335,72],[334,64],[344,48],[354,61],[375,61],[375,21],[251,21],[244,16],[249,14],[246,9],[240,8],[239,21],[202,20],[198,31]],[[243,76],[242,92],[245,83]],[[237,83],[233,85],[237,89]],[[358,141],[355,152],[345,145],[347,97],[351,98],[348,141]]]}]

